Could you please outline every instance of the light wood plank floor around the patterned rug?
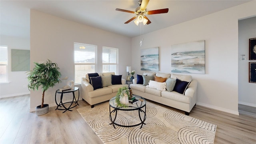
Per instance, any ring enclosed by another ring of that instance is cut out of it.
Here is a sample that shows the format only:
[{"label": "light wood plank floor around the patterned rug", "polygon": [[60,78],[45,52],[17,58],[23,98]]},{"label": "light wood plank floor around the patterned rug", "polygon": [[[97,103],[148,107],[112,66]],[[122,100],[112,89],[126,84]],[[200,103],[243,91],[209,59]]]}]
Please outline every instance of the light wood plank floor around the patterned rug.
[{"label": "light wood plank floor around the patterned rug", "polygon": [[[72,112],[62,113],[54,106],[47,114],[37,116],[29,112],[29,95],[0,99],[0,143],[102,144],[76,111],[88,103],[82,100],[78,103]],[[256,108],[238,107],[239,116],[196,105],[190,116],[217,125],[214,144],[256,144]]]}]

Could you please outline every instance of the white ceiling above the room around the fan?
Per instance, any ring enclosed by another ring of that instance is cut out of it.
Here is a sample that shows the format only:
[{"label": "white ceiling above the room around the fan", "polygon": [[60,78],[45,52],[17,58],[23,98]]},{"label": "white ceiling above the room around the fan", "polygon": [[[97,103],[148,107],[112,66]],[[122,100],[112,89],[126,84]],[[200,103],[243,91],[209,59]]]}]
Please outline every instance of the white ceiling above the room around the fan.
[{"label": "white ceiling above the room around the fan", "polygon": [[[147,17],[152,22],[143,26],[143,33],[173,26],[213,12],[224,10],[250,0],[150,0],[147,10],[169,8],[166,14]],[[138,0],[0,0],[1,35],[29,37],[30,9],[79,22],[128,37],[141,34],[140,25],[124,24],[135,14]]]}]

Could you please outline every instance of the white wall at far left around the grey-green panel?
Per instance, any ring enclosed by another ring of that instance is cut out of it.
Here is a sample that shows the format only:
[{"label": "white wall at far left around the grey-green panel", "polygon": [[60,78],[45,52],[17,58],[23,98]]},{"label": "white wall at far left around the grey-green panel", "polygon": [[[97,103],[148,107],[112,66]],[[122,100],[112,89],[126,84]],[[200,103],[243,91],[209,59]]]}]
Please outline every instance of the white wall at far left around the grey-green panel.
[{"label": "white wall at far left around the grey-green panel", "polygon": [[0,98],[29,94],[26,71],[11,71],[11,49],[30,50],[30,38],[0,36],[0,45],[8,46],[8,83],[0,85]]}]

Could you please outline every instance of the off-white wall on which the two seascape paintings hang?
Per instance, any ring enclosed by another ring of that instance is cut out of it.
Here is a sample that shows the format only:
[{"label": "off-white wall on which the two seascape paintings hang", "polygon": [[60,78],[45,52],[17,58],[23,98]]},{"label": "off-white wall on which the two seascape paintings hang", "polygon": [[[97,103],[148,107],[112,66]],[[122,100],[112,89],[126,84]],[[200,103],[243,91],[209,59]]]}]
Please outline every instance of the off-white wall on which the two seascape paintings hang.
[{"label": "off-white wall on which the two seascape paintings hang", "polygon": [[256,15],[256,1],[132,38],[132,67],[140,70],[140,49],[160,48],[160,71],[171,73],[171,45],[205,40],[206,74],[198,80],[197,104],[238,114],[238,19]]}]

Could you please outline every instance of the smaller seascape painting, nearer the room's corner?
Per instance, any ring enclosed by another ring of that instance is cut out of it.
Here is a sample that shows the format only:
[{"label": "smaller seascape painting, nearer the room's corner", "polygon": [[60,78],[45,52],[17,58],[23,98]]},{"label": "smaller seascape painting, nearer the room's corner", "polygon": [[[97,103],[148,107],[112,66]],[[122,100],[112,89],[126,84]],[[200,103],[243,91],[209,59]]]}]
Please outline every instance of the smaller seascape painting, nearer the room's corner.
[{"label": "smaller seascape painting, nearer the room's corner", "polygon": [[159,48],[140,50],[140,70],[159,71]]}]

